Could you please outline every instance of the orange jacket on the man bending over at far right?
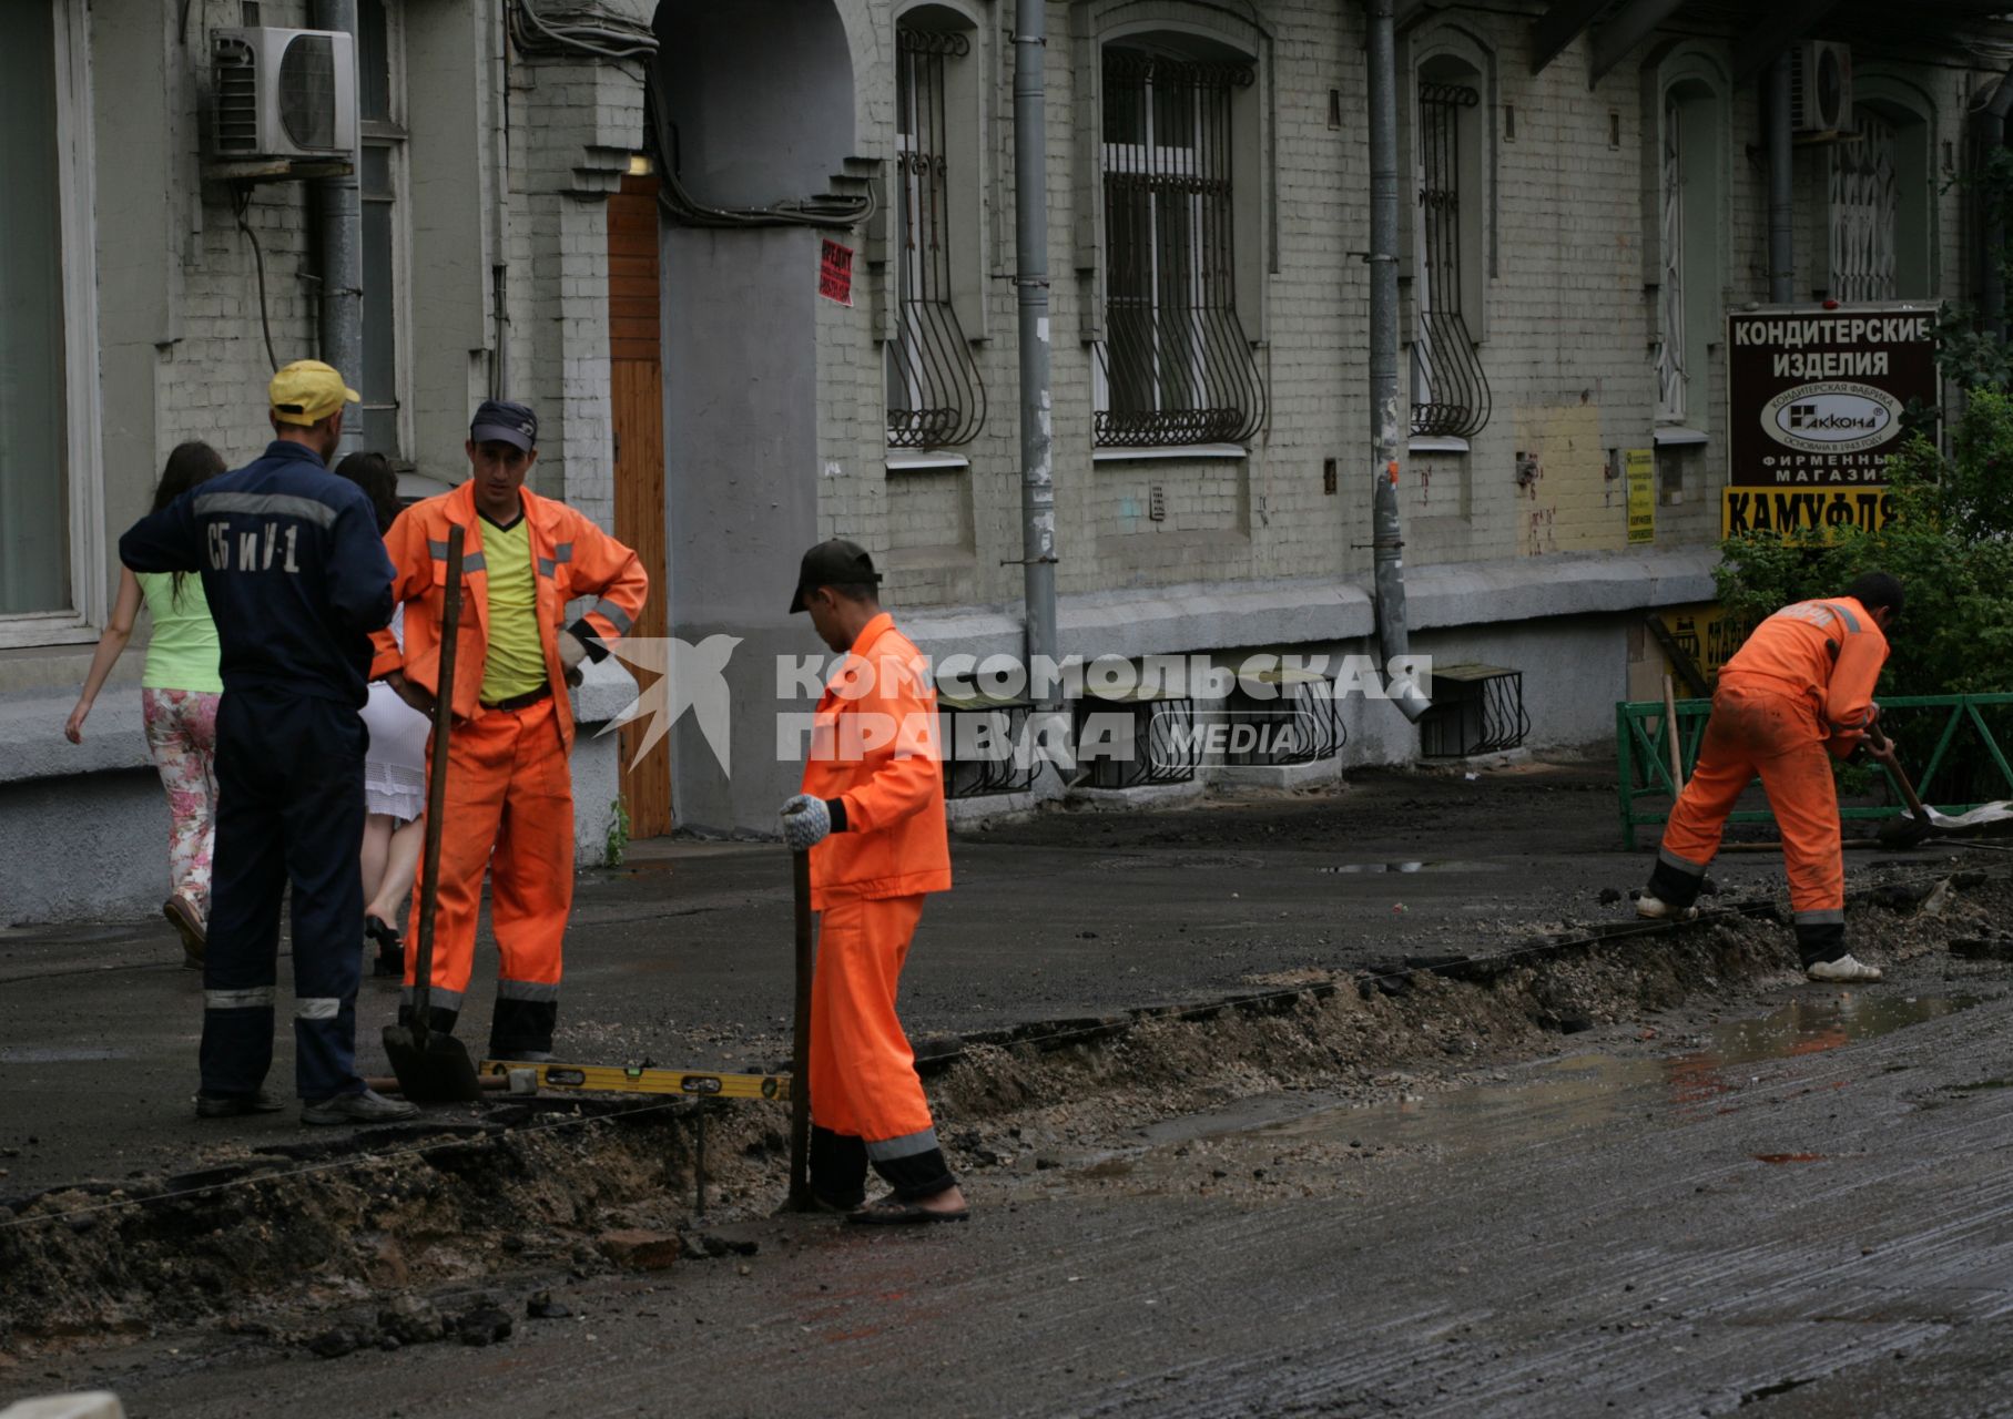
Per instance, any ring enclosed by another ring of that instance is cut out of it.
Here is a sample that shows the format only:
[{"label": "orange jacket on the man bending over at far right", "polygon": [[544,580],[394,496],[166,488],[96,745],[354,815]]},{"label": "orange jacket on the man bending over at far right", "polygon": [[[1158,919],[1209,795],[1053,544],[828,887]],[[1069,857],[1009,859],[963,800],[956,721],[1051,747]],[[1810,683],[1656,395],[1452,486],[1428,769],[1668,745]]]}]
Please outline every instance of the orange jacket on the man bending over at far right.
[{"label": "orange jacket on the man bending over at far right", "polygon": [[1850,753],[1874,719],[1874,682],[1886,654],[1886,636],[1854,598],[1798,602],[1755,628],[1721,668],[1719,684],[1808,698],[1834,751]]}]

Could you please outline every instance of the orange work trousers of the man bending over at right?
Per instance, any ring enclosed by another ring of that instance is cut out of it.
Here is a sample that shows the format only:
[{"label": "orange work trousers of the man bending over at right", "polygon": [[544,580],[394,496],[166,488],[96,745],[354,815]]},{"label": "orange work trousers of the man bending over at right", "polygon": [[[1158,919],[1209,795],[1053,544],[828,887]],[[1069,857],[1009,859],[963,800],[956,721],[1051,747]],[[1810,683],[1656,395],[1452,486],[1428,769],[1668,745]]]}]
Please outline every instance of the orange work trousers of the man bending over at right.
[{"label": "orange work trousers of the man bending over at right", "polygon": [[1691,906],[1719,851],[1727,815],[1755,775],[1761,775],[1782,831],[1798,944],[1806,962],[1834,960],[1844,940],[1846,861],[1838,843],[1832,757],[1818,708],[1808,698],[1721,684],[1699,763],[1663,829],[1651,892],[1673,906]]}]

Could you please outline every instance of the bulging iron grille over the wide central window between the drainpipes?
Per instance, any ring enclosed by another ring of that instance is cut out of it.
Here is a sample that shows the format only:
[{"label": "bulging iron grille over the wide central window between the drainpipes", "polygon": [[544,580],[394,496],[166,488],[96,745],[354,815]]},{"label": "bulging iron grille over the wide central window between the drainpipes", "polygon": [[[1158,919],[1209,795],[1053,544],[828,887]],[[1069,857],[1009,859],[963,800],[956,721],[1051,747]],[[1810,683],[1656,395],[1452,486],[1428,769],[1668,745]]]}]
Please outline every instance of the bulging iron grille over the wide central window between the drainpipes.
[{"label": "bulging iron grille over the wide central window between the drainpipes", "polygon": [[1264,384],[1236,310],[1232,95],[1248,64],[1105,46],[1097,443],[1242,443]]}]

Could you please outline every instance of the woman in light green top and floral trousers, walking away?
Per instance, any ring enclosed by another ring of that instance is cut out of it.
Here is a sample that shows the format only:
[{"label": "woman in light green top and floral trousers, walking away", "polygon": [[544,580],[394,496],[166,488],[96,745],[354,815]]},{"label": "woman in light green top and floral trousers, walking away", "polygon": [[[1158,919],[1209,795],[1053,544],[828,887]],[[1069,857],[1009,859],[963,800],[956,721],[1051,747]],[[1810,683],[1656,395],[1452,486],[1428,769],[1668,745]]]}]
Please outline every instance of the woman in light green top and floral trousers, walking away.
[{"label": "woman in light green top and floral trousers, walking away", "polygon": [[[167,455],[161,485],[153,491],[153,511],[161,511],[185,491],[223,471],[223,459],[207,443],[183,443]],[[119,600],[111,622],[91,656],[91,674],[76,696],[76,708],[62,727],[72,745],[85,743],[91,715],[105,676],[133,638],[141,602],[153,620],[147,640],[147,668],[141,672],[141,711],[147,745],[167,789],[167,870],[169,898],[161,912],[181,934],[185,964],[203,964],[203,924],[209,920],[209,849],[215,839],[215,753],[217,628],[209,620],[203,582],[189,572],[119,572]]]}]

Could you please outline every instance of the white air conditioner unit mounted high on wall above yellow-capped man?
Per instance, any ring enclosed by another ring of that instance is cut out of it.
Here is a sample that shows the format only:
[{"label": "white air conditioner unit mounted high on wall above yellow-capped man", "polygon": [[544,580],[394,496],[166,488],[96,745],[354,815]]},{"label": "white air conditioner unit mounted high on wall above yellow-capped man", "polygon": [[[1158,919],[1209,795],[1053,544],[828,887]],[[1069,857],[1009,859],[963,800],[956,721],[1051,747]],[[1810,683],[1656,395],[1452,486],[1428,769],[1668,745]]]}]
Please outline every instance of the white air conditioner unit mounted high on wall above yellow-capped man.
[{"label": "white air conditioner unit mounted high on wall above yellow-capped man", "polygon": [[356,48],[330,30],[215,30],[211,149],[221,159],[356,149]]}]

